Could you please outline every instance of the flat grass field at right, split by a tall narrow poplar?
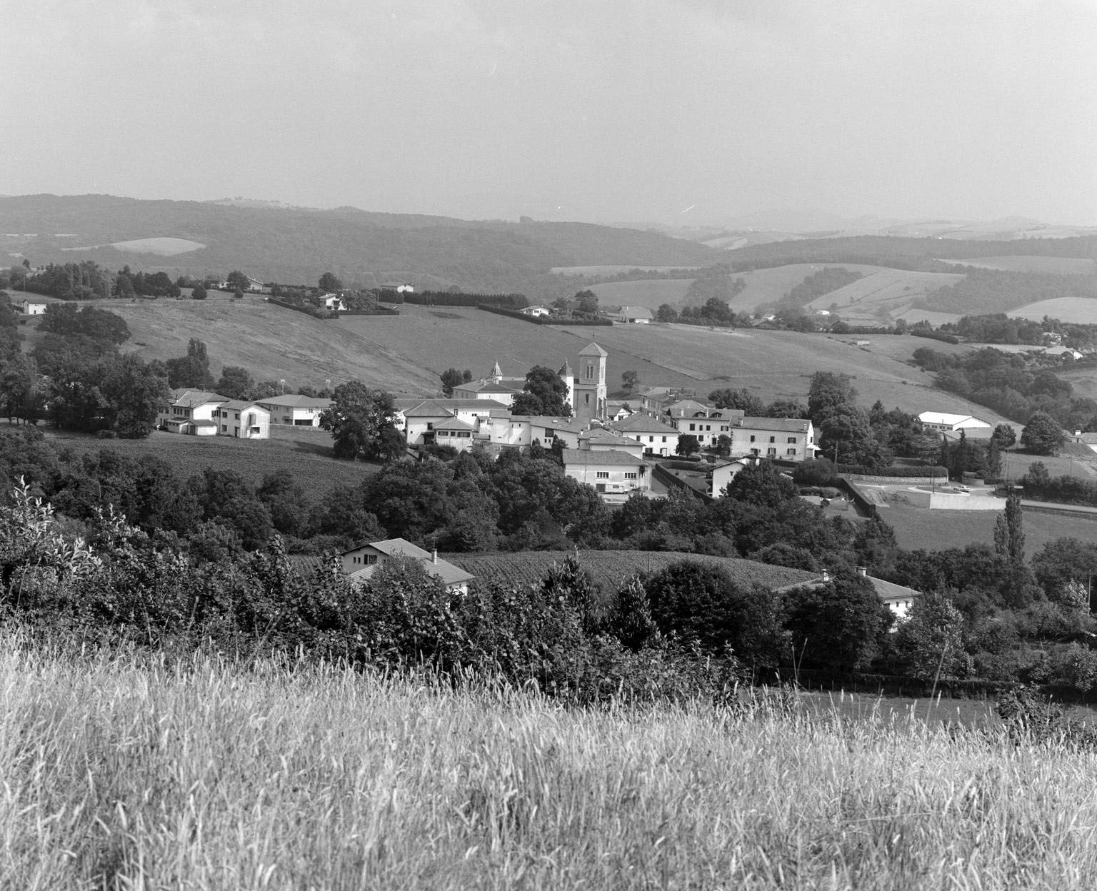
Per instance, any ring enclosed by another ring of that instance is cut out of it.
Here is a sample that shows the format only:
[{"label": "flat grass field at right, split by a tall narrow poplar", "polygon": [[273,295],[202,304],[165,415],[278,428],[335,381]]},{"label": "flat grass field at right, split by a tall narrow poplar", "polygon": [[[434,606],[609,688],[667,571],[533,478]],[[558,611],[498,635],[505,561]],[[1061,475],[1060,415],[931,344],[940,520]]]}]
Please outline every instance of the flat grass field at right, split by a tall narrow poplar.
[{"label": "flat grass field at right, split by a tall narrow poplar", "polygon": [[[895,530],[900,548],[907,550],[938,551],[968,544],[993,546],[997,517],[995,510],[929,510],[897,504],[880,509],[880,519]],[[1059,538],[1093,541],[1097,539],[1097,520],[1025,511],[1025,551],[1029,556]]]}]

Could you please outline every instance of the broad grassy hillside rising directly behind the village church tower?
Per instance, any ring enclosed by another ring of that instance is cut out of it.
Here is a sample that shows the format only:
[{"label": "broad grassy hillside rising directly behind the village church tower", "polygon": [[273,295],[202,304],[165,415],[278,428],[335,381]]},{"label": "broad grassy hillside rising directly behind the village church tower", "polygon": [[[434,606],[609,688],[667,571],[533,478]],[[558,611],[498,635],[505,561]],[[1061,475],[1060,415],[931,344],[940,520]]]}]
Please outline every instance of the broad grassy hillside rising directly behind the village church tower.
[{"label": "broad grassy hillside rising directly behind the village church tower", "polygon": [[[285,379],[323,385],[361,380],[396,394],[438,392],[446,368],[485,374],[498,361],[504,373],[522,375],[534,364],[559,368],[575,362],[595,336],[610,353],[612,391],[627,370],[642,384],[693,388],[701,395],[721,386],[746,386],[769,402],[805,399],[815,371],[851,374],[860,399],[902,406],[977,414],[993,413],[930,386],[931,375],[906,364],[924,341],[912,337],[872,338],[856,347],[851,338],[787,331],[708,329],[688,325],[614,325],[554,328],[491,315],[479,309],[429,306],[400,308],[399,316],[346,316],[320,322],[263,302],[211,298],[195,301],[103,302],[133,331],[126,349],[146,359],[186,352],[186,341],[206,341],[214,373],[222,364],[244,365],[257,380]],[[934,341],[935,349],[964,350]]]}]

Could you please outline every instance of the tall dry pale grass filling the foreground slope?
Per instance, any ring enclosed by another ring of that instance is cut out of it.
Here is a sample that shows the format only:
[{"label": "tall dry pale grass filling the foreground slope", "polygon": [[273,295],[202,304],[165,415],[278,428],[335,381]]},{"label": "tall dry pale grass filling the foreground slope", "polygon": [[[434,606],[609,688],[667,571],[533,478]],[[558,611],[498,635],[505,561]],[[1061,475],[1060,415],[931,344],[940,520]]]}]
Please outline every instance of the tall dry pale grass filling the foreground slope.
[{"label": "tall dry pale grass filling the foreground slope", "polygon": [[1097,758],[0,639],[11,889],[1092,888]]}]

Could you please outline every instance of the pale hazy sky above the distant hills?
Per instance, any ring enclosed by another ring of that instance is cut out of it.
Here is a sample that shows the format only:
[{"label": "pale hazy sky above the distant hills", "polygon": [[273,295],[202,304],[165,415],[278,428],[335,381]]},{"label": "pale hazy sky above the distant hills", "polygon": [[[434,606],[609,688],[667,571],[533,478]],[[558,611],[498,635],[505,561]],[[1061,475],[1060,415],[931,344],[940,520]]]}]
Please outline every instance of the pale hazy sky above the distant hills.
[{"label": "pale hazy sky above the distant hills", "polygon": [[0,34],[5,194],[1097,224],[1097,0],[0,0]]}]

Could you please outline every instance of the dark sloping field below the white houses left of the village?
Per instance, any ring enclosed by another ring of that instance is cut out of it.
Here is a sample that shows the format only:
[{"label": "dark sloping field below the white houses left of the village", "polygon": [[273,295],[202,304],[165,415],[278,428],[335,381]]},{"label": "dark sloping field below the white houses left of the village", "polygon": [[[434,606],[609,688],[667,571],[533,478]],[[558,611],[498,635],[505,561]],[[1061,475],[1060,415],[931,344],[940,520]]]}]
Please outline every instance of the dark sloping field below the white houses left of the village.
[{"label": "dark sloping field below the white houses left of the village", "polygon": [[267,440],[160,431],[154,431],[148,439],[97,439],[52,430],[45,433],[58,448],[78,453],[113,449],[131,456],[155,454],[184,480],[208,466],[234,471],[252,483],[261,483],[267,474],[284,469],[309,495],[319,495],[335,485],[359,483],[380,466],[363,461],[336,461],[331,458],[331,436],[324,430],[271,427],[271,438]]}]

